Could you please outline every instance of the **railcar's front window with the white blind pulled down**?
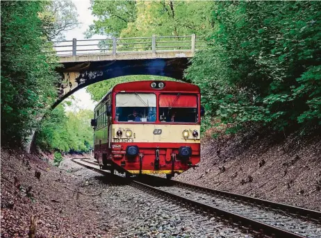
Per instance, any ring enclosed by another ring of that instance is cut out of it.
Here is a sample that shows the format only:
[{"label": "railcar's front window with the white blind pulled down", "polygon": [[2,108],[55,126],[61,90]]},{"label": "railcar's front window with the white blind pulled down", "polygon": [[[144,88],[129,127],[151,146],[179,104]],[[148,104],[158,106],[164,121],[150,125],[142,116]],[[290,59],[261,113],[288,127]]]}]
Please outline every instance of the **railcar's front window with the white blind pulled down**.
[{"label": "railcar's front window with the white blind pulled down", "polygon": [[156,121],[156,95],[116,94],[116,121]]}]

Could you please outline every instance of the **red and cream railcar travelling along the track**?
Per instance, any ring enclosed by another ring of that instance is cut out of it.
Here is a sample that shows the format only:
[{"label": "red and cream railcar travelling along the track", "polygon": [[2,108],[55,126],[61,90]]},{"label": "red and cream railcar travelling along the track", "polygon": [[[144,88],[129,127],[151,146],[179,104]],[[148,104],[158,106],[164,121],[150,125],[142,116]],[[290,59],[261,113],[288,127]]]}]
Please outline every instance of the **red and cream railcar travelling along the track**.
[{"label": "red and cream railcar travelling along the track", "polygon": [[167,178],[200,160],[199,87],[174,81],[121,83],[94,108],[94,158],[102,169]]}]

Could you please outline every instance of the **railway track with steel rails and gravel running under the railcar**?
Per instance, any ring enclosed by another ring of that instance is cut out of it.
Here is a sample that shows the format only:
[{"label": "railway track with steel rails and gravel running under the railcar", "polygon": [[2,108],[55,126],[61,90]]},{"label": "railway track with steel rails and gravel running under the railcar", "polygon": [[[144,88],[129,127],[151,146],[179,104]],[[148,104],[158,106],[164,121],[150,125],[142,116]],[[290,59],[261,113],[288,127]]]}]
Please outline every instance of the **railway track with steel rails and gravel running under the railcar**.
[{"label": "railway track with steel rails and gravel running under the railcar", "polygon": [[[74,160],[104,175],[107,171],[90,160]],[[115,176],[119,179],[119,176]],[[124,179],[124,178],[122,178]],[[164,196],[189,209],[203,210],[248,230],[255,237],[321,237],[321,212],[272,203],[258,198],[222,192],[155,176],[129,180],[129,185]]]}]

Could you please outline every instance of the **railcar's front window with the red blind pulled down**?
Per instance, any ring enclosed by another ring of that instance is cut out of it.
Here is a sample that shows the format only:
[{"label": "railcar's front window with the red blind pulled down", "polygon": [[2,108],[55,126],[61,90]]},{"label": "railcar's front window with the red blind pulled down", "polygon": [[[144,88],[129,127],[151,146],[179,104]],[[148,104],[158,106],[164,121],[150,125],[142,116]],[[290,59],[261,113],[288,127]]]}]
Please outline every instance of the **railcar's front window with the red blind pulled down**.
[{"label": "railcar's front window with the red blind pulled down", "polygon": [[159,96],[159,120],[161,122],[196,123],[197,95],[161,94]]}]

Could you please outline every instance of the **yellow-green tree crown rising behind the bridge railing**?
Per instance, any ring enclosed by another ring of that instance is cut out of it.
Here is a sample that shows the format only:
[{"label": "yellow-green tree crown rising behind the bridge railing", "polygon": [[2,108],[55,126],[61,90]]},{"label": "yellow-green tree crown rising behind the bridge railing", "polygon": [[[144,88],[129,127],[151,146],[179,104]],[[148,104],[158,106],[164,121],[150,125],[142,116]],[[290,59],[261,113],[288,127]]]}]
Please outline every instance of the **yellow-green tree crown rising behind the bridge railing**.
[{"label": "yellow-green tree crown rising behind the bridge railing", "polygon": [[211,1],[138,1],[137,18],[122,37],[204,35],[211,32]]}]

